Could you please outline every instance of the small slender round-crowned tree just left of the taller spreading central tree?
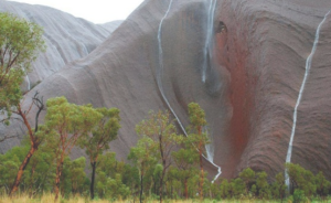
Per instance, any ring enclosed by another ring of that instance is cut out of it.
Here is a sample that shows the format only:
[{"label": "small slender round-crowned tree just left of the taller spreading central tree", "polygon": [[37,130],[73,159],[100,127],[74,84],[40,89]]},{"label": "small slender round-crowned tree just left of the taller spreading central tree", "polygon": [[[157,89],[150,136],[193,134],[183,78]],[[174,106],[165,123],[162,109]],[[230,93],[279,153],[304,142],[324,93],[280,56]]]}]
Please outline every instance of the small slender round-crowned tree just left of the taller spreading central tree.
[{"label": "small slender round-crowned tree just left of the taller spreading central tree", "polygon": [[140,173],[140,203],[142,203],[145,174],[158,161],[154,153],[156,148],[153,140],[148,137],[142,137],[138,140],[137,146],[130,149],[130,153],[128,156],[128,159],[134,162],[134,165],[137,167]]}]

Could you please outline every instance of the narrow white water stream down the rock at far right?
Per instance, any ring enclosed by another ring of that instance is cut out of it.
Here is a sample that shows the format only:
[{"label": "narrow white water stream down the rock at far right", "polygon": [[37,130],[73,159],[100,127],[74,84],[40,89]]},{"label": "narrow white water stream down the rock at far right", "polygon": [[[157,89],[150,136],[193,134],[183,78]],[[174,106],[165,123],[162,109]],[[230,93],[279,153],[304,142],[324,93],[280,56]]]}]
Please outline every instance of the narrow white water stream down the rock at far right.
[{"label": "narrow white water stream down the rock at far right", "polygon": [[[301,87],[300,87],[300,92],[299,92],[299,96],[298,96],[298,99],[297,99],[297,104],[296,104],[296,107],[295,107],[295,111],[293,111],[293,125],[292,125],[292,130],[291,130],[291,136],[290,136],[290,141],[289,141],[289,145],[288,145],[288,151],[287,151],[287,156],[286,156],[286,162],[287,163],[290,163],[291,162],[291,156],[292,156],[292,143],[293,143],[293,139],[295,139],[295,133],[296,133],[296,127],[297,127],[297,116],[298,116],[298,107],[300,105],[300,101],[301,101],[301,98],[302,98],[302,94],[303,94],[303,90],[305,90],[305,85],[306,85],[306,82],[307,82],[307,78],[308,78],[308,75],[309,75],[309,71],[311,68],[311,62],[312,62],[312,57],[314,55],[314,52],[317,50],[317,45],[319,43],[319,39],[320,39],[320,30],[322,28],[322,24],[325,22],[327,20],[327,17],[330,14],[330,11],[324,15],[323,20],[320,22],[320,24],[318,25],[318,29],[316,31],[316,35],[314,35],[314,42],[313,42],[313,45],[312,45],[312,50],[311,50],[311,53],[309,54],[309,56],[307,57],[307,61],[306,61],[306,72],[305,72],[305,76],[303,76],[303,81],[302,81],[302,84],[301,84]],[[288,175],[288,172],[287,170],[285,171],[285,182],[286,182],[286,185],[289,188],[289,175]]]}]

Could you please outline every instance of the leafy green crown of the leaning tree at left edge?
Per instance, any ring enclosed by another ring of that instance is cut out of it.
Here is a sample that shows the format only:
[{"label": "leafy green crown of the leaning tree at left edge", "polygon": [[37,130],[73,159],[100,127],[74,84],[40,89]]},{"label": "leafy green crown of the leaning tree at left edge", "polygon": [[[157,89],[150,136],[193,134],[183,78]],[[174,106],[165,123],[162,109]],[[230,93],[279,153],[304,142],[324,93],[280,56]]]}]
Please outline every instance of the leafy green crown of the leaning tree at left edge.
[{"label": "leafy green crown of the leaning tree at left edge", "polygon": [[0,12],[0,113],[7,115],[22,98],[20,85],[41,51],[45,50],[43,29],[33,22]]}]

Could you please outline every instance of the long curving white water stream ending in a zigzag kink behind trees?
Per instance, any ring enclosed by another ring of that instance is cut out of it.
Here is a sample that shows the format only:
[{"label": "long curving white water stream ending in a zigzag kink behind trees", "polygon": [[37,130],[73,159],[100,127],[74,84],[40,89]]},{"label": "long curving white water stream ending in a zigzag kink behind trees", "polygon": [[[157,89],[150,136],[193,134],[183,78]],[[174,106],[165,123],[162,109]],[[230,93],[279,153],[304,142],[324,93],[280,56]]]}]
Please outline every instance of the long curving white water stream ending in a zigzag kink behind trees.
[{"label": "long curving white water stream ending in a zigzag kink behind trees", "polygon": [[[172,2],[173,0],[170,0],[169,2],[169,7],[168,10],[166,12],[166,14],[163,15],[163,18],[160,21],[159,24],[159,29],[158,29],[158,45],[159,45],[159,68],[157,67],[156,73],[157,73],[157,83],[158,83],[158,87],[159,90],[162,95],[163,100],[166,101],[168,108],[170,109],[171,114],[175,117],[180,128],[182,129],[182,131],[184,132],[184,135],[188,137],[188,132],[185,130],[185,128],[183,127],[181,120],[179,119],[179,117],[177,116],[175,111],[173,110],[173,108],[171,107],[164,90],[163,90],[163,85],[162,85],[162,74],[163,74],[163,68],[164,68],[164,64],[163,64],[163,49],[162,49],[162,39],[161,39],[161,32],[162,32],[162,25],[163,25],[163,21],[166,20],[166,18],[168,17],[170,9],[172,7]],[[205,158],[205,157],[204,157]],[[217,168],[217,174],[215,175],[215,178],[213,179],[212,182],[214,182],[215,180],[217,180],[217,178],[221,175],[222,171],[221,171],[221,167],[216,165],[213,160],[211,161],[209,158],[205,158],[210,163],[212,163],[215,168]]]}]

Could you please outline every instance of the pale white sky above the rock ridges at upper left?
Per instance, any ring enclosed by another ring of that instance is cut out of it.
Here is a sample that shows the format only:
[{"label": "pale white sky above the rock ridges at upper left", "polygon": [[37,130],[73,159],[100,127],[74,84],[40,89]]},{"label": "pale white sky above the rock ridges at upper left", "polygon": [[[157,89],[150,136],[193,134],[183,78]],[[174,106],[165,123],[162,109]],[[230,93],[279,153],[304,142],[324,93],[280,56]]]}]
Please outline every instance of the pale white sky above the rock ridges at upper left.
[{"label": "pale white sky above the rock ridges at upper left", "polygon": [[52,7],[96,24],[125,20],[143,0],[12,0]]}]

